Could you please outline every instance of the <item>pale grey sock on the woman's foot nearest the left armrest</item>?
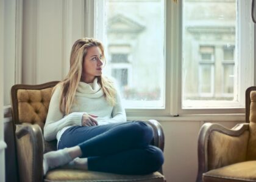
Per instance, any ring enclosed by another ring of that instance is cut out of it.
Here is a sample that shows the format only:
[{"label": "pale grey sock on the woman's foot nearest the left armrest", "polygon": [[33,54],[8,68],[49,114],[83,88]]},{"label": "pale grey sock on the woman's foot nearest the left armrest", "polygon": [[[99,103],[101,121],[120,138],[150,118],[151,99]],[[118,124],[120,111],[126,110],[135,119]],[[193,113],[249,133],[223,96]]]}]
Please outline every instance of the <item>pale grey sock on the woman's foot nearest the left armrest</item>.
[{"label": "pale grey sock on the woman's foot nearest the left armrest", "polygon": [[72,160],[73,160],[73,158],[70,157],[68,150],[66,148],[57,150],[57,151],[44,153],[44,155],[43,155],[43,173],[45,175],[49,169],[63,166],[64,164],[67,164]]}]

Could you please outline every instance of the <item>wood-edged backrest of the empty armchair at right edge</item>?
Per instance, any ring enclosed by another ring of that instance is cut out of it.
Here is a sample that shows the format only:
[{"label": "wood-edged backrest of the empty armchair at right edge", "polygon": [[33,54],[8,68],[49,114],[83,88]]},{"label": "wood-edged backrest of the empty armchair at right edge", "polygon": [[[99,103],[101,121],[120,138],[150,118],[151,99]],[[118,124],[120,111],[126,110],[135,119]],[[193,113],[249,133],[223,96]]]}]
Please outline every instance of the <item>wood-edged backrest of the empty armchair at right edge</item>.
[{"label": "wood-edged backrest of the empty armchair at right edge", "polygon": [[246,123],[249,123],[247,160],[256,160],[256,87],[246,90]]}]

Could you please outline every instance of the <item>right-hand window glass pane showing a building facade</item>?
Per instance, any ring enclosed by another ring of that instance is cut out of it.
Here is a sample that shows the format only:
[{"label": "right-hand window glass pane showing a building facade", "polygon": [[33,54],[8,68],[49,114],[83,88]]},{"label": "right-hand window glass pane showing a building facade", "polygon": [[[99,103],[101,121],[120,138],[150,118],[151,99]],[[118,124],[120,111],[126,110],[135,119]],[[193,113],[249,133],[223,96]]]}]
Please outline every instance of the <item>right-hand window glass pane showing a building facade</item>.
[{"label": "right-hand window glass pane showing a building facade", "polygon": [[237,0],[183,0],[182,5],[182,108],[236,101]]}]

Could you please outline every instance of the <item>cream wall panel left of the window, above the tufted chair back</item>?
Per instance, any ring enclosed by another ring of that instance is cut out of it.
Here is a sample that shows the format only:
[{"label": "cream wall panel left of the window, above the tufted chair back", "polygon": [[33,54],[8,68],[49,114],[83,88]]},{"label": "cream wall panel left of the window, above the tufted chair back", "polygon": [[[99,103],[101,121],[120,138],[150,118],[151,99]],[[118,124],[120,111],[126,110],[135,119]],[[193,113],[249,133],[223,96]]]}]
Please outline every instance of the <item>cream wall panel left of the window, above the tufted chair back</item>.
[{"label": "cream wall panel left of the window, above the tufted chair back", "polygon": [[22,83],[63,79],[69,53],[84,36],[84,1],[23,1]]}]

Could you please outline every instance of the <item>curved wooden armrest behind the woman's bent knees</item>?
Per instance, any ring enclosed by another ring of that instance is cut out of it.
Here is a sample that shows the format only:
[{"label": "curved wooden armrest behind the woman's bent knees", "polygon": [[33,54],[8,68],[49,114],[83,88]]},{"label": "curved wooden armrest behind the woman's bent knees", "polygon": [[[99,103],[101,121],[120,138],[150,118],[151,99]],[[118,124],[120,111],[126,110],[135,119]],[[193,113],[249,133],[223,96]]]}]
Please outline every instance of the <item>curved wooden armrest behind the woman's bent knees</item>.
[{"label": "curved wooden armrest behind the woman's bent knees", "polygon": [[165,135],[163,134],[163,128],[161,124],[157,120],[147,120],[153,131],[154,131],[154,139],[152,141],[152,145],[160,148],[162,151],[165,147]]}]

